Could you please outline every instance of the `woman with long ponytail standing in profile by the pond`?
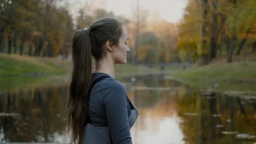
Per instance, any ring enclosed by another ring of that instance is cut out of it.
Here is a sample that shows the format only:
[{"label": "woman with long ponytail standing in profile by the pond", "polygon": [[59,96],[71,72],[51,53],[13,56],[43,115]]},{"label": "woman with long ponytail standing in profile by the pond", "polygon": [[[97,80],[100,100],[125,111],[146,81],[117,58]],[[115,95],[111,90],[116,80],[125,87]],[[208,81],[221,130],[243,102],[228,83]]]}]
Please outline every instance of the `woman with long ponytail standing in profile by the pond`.
[{"label": "woman with long ponytail standing in profile by the pond", "polygon": [[130,128],[138,111],[114,79],[115,65],[126,63],[128,39],[126,29],[112,18],[75,32],[68,100],[71,143],[132,143]]}]

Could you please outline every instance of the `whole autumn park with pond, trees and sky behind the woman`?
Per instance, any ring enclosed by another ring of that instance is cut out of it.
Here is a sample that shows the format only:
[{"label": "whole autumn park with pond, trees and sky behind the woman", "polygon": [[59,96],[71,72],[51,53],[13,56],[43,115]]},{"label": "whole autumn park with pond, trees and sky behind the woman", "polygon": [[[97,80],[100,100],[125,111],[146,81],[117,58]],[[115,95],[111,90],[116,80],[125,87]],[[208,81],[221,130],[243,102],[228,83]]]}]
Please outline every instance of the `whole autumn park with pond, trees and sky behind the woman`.
[{"label": "whole autumn park with pond, trees and sky behind the woman", "polygon": [[75,31],[115,17],[133,143],[256,142],[255,0],[0,0],[0,143],[68,143]]}]

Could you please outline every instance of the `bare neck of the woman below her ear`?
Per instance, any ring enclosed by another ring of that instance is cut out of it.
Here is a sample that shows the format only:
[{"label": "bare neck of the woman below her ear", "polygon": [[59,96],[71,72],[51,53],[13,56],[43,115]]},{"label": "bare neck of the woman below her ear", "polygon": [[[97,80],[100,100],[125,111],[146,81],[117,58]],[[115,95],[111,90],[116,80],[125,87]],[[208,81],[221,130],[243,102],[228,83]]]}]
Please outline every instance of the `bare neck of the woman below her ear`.
[{"label": "bare neck of the woman below her ear", "polygon": [[115,78],[115,64],[110,58],[103,58],[96,64],[96,73],[106,73]]}]

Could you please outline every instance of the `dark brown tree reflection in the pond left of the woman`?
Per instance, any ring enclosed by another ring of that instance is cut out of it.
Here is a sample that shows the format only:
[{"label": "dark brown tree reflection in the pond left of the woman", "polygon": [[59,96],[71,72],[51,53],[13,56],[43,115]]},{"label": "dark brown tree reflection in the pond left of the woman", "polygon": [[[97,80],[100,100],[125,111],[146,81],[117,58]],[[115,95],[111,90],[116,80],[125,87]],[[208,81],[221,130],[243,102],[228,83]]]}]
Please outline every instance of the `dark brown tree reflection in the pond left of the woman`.
[{"label": "dark brown tree reflection in the pond left of the woman", "polygon": [[0,142],[54,142],[65,135],[65,97],[65,87],[2,94]]}]

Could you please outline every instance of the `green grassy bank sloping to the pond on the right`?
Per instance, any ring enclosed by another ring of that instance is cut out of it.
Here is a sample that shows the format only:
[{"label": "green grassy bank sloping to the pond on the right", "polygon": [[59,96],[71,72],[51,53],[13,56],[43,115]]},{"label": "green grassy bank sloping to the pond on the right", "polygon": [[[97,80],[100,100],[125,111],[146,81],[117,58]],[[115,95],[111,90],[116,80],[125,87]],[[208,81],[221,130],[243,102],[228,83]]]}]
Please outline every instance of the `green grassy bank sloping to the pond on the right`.
[{"label": "green grassy bank sloping to the pond on the right", "polygon": [[197,88],[220,91],[255,91],[256,62],[216,62],[202,67],[172,70],[169,75]]}]

